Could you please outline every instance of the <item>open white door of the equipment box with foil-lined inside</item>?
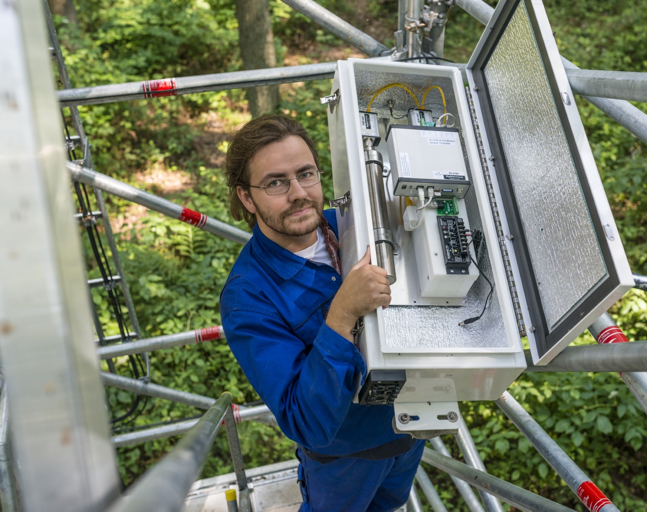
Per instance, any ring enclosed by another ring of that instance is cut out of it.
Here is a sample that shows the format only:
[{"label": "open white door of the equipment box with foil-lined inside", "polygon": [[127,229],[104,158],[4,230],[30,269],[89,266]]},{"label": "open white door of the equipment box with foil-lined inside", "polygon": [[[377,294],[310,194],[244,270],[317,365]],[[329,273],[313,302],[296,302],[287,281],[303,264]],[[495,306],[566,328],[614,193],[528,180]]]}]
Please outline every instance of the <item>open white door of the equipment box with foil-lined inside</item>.
[{"label": "open white door of the equipment box with foil-lined inside", "polygon": [[499,1],[467,67],[532,359],[546,364],[633,286],[631,270],[542,1]]}]

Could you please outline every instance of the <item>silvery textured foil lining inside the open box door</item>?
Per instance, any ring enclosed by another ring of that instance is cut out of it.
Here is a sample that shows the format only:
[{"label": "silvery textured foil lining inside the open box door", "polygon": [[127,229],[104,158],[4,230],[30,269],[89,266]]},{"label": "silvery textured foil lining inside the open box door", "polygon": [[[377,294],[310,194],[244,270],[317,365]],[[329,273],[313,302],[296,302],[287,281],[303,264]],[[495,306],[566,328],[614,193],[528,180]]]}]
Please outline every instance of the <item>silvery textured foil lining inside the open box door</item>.
[{"label": "silvery textured foil lining inside the open box door", "polygon": [[549,330],[607,273],[523,2],[485,67]]}]

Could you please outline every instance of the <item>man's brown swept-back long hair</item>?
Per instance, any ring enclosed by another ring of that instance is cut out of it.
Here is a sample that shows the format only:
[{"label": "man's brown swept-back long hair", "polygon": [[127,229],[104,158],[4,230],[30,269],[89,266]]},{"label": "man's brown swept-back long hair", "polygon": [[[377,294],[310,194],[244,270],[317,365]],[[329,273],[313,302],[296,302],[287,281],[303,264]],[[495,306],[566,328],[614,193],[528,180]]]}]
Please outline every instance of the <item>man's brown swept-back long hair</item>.
[{"label": "man's brown swept-back long hair", "polygon": [[303,139],[313,154],[314,164],[319,167],[319,155],[305,128],[300,122],[286,116],[266,114],[251,120],[237,129],[227,147],[225,176],[229,187],[229,209],[234,219],[245,219],[250,228],[256,224],[256,215],[247,211],[238,198],[236,187],[249,190],[249,162],[259,149],[273,142],[281,142],[291,135]]}]

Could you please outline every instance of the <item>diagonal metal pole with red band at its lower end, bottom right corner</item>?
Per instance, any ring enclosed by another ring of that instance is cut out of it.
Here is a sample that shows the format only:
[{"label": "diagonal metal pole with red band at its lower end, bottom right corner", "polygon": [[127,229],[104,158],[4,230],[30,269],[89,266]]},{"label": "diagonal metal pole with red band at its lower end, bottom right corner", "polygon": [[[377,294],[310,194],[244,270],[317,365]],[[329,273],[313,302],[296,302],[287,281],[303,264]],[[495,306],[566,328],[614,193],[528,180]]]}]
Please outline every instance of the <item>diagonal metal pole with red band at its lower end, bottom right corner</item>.
[{"label": "diagonal metal pole with red band at its lower end, bottom right corner", "polygon": [[501,398],[496,400],[496,404],[589,510],[618,512],[609,498],[589,480],[586,473],[571,460],[549,434],[543,431],[539,423],[532,419],[532,416],[521,407],[518,401],[514,400],[509,392],[503,392]]}]

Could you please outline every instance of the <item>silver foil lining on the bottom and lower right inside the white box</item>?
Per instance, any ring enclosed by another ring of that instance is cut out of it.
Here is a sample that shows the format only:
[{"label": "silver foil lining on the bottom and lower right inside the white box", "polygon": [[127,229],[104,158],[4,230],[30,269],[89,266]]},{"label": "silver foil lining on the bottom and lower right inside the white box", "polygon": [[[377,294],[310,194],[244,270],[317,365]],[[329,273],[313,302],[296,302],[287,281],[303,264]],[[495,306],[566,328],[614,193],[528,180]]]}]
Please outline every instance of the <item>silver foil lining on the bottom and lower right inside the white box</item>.
[{"label": "silver foil lining on the bottom and lower right inside the white box", "polygon": [[[482,231],[483,224],[473,187],[465,197],[465,204],[470,227],[474,231]],[[494,284],[485,242],[479,248],[477,261]],[[489,292],[490,285],[483,275],[480,275],[467,294],[465,306],[389,306],[383,312],[386,346],[424,349],[509,347],[496,287],[483,317],[469,325],[458,325],[459,322],[481,313]]]}]

